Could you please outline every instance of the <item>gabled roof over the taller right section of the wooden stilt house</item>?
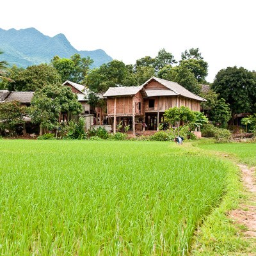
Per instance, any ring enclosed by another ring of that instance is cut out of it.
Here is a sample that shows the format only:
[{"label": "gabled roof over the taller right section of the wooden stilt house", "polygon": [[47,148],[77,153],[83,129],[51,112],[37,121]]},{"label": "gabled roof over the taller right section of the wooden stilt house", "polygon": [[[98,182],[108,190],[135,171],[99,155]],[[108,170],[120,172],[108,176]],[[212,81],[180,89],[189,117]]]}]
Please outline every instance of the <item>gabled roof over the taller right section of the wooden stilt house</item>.
[{"label": "gabled roof over the taller right section of the wooden stilt house", "polygon": [[[200,101],[207,101],[204,98],[189,92],[189,90],[187,90],[186,88],[184,88],[183,86],[181,86],[178,83],[172,82],[172,81],[168,81],[168,80],[164,80],[161,78],[157,78],[157,77],[151,77],[150,79],[148,79],[148,81],[146,81],[144,84],[142,84],[143,87],[145,87],[147,84],[150,84],[152,81],[157,81],[158,83],[162,84],[163,86],[166,87],[166,89],[169,89],[172,91],[173,95],[180,95],[189,99],[195,99],[195,100],[200,100]],[[158,92],[157,92],[158,91]],[[157,89],[156,92],[154,93],[154,96],[161,96],[161,89]],[[151,92],[151,90],[150,90]],[[147,90],[146,90],[147,93]]]}]

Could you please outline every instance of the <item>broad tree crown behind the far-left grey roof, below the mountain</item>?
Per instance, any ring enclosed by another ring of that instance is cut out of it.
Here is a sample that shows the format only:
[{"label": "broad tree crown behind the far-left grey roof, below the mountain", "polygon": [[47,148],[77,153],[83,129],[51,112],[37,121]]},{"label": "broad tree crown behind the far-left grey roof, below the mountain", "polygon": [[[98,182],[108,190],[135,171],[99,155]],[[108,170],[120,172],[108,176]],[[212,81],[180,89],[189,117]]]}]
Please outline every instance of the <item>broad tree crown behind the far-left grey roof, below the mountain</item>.
[{"label": "broad tree crown behind the far-left grey roof, below the mountain", "polygon": [[61,78],[57,70],[47,64],[34,65],[26,68],[13,67],[10,72],[13,83],[8,83],[12,91],[34,92],[45,85],[56,84]]}]

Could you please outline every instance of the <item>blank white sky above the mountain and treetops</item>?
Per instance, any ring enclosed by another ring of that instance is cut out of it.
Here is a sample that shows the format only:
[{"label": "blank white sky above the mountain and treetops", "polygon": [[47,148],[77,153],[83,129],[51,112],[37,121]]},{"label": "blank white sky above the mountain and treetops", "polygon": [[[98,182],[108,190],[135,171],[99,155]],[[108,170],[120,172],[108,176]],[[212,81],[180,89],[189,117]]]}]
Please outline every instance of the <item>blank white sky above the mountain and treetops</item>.
[{"label": "blank white sky above the mountain and treetops", "polygon": [[8,0],[0,28],[63,33],[79,51],[104,50],[135,64],[165,49],[199,48],[210,83],[222,68],[256,70],[255,0]]}]

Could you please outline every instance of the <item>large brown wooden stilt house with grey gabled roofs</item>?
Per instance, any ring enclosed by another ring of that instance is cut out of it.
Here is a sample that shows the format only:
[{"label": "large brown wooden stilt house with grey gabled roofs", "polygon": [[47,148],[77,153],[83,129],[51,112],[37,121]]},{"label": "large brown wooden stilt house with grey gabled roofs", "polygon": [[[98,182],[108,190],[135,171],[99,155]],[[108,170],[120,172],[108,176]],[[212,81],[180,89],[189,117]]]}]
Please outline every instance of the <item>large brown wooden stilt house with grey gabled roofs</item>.
[{"label": "large brown wooden stilt house with grey gabled roofs", "polygon": [[130,125],[132,134],[140,130],[158,131],[164,124],[164,111],[169,108],[186,106],[200,111],[202,97],[189,92],[180,84],[152,77],[141,86],[111,87],[103,95],[108,99],[107,118],[113,125]]}]

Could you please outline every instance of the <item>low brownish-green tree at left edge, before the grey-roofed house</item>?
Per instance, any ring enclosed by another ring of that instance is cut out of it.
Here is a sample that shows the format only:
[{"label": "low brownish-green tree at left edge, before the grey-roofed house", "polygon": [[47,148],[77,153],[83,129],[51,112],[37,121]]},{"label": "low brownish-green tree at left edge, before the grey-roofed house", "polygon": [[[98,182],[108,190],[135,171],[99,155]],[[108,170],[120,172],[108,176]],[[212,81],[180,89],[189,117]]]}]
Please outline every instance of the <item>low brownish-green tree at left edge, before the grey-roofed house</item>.
[{"label": "low brownish-green tree at left edge, before the grey-roofed house", "polygon": [[26,114],[25,107],[20,102],[2,102],[0,104],[0,134],[15,134],[17,125],[24,124],[23,116]]}]

